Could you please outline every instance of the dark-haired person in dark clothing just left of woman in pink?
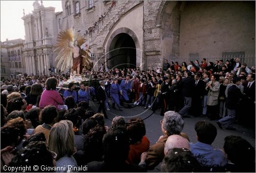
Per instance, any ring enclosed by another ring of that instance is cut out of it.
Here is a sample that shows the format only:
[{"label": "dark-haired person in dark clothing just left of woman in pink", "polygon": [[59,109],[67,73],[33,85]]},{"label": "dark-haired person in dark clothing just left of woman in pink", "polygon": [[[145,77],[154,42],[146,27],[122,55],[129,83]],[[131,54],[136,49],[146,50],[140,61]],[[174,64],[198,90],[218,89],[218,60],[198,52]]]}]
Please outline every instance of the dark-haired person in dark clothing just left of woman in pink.
[{"label": "dark-haired person in dark clothing just left of woman in pink", "polygon": [[[26,88],[25,88],[26,90]],[[28,104],[36,105],[36,100],[39,95],[42,94],[42,85],[34,83],[32,84],[29,95],[25,98]]]}]

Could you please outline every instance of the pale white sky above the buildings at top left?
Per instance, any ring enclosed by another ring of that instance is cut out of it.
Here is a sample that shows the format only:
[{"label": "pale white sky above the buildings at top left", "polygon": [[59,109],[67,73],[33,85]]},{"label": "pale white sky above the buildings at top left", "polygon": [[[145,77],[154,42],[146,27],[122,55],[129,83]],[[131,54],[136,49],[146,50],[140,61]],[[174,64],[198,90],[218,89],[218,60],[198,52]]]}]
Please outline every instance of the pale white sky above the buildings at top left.
[{"label": "pale white sky above the buildings at top left", "polygon": [[[32,13],[34,1],[0,1],[1,7],[1,41],[25,39],[23,9],[25,15]],[[38,1],[41,4],[40,1]],[[61,1],[42,1],[44,7],[55,7],[55,12],[62,11]]]}]

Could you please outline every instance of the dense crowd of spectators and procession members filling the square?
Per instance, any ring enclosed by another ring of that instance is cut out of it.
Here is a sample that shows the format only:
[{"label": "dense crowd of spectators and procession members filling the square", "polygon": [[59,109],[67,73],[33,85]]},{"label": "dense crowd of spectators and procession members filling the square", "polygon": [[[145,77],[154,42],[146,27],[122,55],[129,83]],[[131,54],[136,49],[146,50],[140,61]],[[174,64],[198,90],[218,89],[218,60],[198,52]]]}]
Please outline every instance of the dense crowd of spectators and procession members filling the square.
[{"label": "dense crowd of spectators and procession members filling the square", "polygon": [[[163,69],[146,71],[102,66],[83,74],[99,85],[65,87],[69,75],[61,73],[1,81],[2,171],[47,165],[52,169],[39,171],[145,172],[161,162],[163,172],[255,171],[255,150],[245,139],[227,136],[223,151],[211,145],[217,128],[208,121],[195,124],[195,144],[182,132],[191,116],[216,120],[221,129],[236,130],[235,123],[255,128],[255,68],[239,58],[203,58],[188,66],[165,60]],[[108,111],[135,106],[160,110],[163,135],[156,144],[139,117],[126,122],[117,116],[105,126]]]}]

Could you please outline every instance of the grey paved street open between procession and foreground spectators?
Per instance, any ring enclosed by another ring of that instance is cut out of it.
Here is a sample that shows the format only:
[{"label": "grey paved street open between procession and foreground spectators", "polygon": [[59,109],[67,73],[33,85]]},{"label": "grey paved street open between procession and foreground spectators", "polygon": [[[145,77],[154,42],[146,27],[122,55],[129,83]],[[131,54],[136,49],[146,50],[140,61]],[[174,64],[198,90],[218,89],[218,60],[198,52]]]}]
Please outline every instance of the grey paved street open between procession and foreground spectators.
[{"label": "grey paved street open between procession and foreground spectators", "polygon": [[[157,110],[156,113],[153,113],[151,109],[144,110],[143,106],[135,106],[131,109],[123,109],[123,111],[114,110],[111,107],[112,102],[110,102],[110,109],[111,111],[106,111],[108,115],[108,119],[105,119],[105,125],[111,126],[112,119],[115,116],[123,116],[125,117],[126,122],[129,121],[131,117],[139,116],[144,120],[144,123],[146,125],[146,136],[150,140],[151,145],[155,144],[158,138],[162,135],[161,132],[161,126],[160,126],[160,120],[163,118],[160,116],[160,110]],[[90,102],[91,109],[93,111],[98,110],[98,104],[97,101]],[[153,114],[152,114],[153,113]],[[196,143],[196,131],[194,129],[195,124],[200,120],[206,120],[209,121],[208,118],[201,118],[201,117],[191,117],[191,118],[185,118],[184,119],[184,128],[183,132],[185,132],[190,139],[190,142]],[[221,148],[223,149],[224,145],[224,138],[229,135],[234,136],[241,136],[242,138],[246,139],[248,142],[251,143],[251,145],[255,148],[255,129],[248,129],[241,125],[235,124],[234,127],[237,128],[237,131],[228,131],[226,129],[220,129],[219,126],[216,124],[217,120],[209,121],[213,123],[217,127],[217,137],[212,143],[212,145],[215,148]],[[161,164],[161,163],[160,163]],[[148,170],[148,172],[160,172],[160,164],[154,169],[154,170]]]}]

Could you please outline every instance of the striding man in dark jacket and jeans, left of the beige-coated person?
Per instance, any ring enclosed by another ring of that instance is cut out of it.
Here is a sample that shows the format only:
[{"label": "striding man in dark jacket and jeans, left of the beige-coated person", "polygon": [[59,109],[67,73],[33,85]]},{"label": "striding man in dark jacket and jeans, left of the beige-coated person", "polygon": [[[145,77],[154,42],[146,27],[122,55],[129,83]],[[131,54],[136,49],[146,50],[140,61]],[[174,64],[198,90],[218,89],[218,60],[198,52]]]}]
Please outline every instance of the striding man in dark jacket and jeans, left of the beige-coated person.
[{"label": "striding man in dark jacket and jeans, left of the beige-coated person", "polygon": [[192,94],[195,88],[194,79],[191,77],[191,72],[186,73],[186,78],[182,79],[182,97],[184,98],[184,107],[179,111],[183,118],[189,118],[188,110],[192,103]]}]

